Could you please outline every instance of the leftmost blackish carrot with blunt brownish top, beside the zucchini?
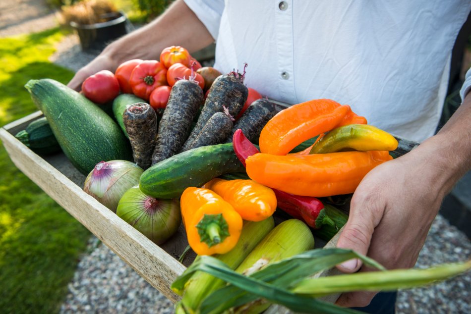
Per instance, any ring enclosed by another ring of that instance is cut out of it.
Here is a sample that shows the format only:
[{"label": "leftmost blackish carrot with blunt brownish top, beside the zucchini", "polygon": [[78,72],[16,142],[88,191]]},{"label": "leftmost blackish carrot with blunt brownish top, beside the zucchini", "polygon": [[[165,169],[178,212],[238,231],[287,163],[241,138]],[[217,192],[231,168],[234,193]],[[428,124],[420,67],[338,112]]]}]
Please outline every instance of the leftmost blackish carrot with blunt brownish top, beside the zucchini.
[{"label": "leftmost blackish carrot with blunt brownish top, beside the zucchini", "polygon": [[149,104],[137,103],[128,106],[122,118],[131,143],[134,162],[145,170],[152,163],[157,115]]}]

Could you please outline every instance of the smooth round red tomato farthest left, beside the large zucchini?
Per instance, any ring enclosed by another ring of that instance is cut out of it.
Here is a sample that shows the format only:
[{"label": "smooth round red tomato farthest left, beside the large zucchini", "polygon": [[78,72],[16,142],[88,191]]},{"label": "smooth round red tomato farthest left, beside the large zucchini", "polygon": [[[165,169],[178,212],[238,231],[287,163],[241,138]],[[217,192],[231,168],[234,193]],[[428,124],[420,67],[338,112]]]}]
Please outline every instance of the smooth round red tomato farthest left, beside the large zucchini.
[{"label": "smooth round red tomato farthest left, beside the large zucchini", "polygon": [[105,104],[118,96],[119,83],[113,72],[102,70],[83,81],[82,92],[92,102]]}]

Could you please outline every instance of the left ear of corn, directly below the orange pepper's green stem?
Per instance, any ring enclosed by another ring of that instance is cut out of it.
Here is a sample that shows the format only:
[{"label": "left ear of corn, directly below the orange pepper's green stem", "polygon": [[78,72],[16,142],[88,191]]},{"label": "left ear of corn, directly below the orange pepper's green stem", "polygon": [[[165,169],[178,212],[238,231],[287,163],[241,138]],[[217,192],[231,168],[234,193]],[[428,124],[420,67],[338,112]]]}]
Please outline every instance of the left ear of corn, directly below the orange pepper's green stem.
[{"label": "left ear of corn, directly below the orange pepper's green stem", "polygon": [[[229,268],[235,269],[273,229],[274,224],[273,217],[258,222],[244,221],[242,232],[235,247],[226,254],[216,255],[215,258],[224,262]],[[195,262],[200,259],[201,257],[198,256]],[[184,284],[175,281],[172,284],[172,290],[179,295],[183,295],[181,301],[176,305],[176,313],[196,313],[201,301],[224,284],[223,280],[202,271],[193,273]]]}]

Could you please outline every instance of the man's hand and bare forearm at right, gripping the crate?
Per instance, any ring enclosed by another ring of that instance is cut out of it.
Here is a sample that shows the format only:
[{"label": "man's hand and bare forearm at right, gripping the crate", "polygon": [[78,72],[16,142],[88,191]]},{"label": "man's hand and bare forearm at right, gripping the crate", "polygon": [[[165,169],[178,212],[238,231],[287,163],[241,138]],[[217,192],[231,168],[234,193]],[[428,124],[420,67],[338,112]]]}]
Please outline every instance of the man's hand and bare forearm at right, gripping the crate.
[{"label": "man's hand and bare forearm at right, gripping the crate", "polygon": [[[471,168],[470,95],[437,135],[363,178],[337,247],[367,255],[388,269],[415,264],[443,198]],[[344,272],[372,270],[356,259],[337,267]],[[344,293],[337,304],[365,307],[374,295]]]}]

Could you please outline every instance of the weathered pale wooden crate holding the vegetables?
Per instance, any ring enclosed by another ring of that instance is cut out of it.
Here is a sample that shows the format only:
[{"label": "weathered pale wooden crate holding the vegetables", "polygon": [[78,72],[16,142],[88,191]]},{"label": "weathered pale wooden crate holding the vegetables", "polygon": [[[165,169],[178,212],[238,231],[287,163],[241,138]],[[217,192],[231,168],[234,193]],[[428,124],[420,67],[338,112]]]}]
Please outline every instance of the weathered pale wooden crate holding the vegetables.
[{"label": "weathered pale wooden crate holding the vegetables", "polygon": [[[177,234],[165,244],[154,244],[116,213],[86,194],[82,190],[85,176],[63,153],[39,156],[14,137],[31,121],[42,116],[42,112],[37,111],[0,129],[0,139],[13,163],[141,277],[171,301],[177,302],[180,297],[170,289],[170,285],[195,258],[194,254],[189,254],[183,263],[178,262],[187,245],[184,228],[180,226]],[[335,246],[336,238],[327,246]],[[326,243],[316,238],[316,247],[324,246]],[[330,296],[328,300],[333,302],[336,299],[337,296]],[[280,313],[282,310],[272,307],[272,311]]]}]

